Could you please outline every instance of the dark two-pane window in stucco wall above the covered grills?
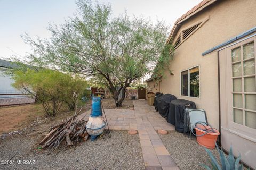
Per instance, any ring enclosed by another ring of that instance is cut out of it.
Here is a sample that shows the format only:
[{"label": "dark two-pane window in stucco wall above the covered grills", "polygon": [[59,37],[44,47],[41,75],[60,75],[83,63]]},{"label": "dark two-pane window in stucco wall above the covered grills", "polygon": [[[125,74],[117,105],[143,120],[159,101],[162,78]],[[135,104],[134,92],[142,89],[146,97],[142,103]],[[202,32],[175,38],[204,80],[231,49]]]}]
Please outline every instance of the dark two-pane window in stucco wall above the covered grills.
[{"label": "dark two-pane window in stucco wall above the covered grills", "polygon": [[200,97],[199,66],[182,71],[180,74],[181,96]]}]

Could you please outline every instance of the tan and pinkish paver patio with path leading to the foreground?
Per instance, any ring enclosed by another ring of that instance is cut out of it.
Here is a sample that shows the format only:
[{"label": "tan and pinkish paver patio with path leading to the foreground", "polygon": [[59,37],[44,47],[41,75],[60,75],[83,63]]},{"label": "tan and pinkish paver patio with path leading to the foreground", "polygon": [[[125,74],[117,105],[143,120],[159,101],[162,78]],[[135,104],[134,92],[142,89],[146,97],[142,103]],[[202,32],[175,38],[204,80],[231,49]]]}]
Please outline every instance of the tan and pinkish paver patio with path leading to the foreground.
[{"label": "tan and pinkish paver patio with path leading to the foreground", "polygon": [[[156,130],[174,130],[146,100],[134,100],[132,109],[105,109],[109,129],[138,130],[145,169],[179,169]],[[89,116],[89,114],[88,114]]]}]

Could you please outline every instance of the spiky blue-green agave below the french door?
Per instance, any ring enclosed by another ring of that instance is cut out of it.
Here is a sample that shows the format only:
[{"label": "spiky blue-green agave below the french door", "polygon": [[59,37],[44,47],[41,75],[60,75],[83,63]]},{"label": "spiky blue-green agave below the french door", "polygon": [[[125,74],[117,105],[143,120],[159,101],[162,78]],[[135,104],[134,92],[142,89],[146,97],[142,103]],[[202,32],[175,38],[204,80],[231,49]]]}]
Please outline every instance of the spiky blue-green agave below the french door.
[{"label": "spiky blue-green agave below the french door", "polygon": [[[230,147],[228,157],[225,156],[222,149],[220,150],[217,145],[216,145],[216,147],[220,154],[221,166],[219,165],[219,163],[217,162],[217,158],[211,153],[211,151],[209,149],[205,148],[207,154],[210,157],[210,163],[211,163],[212,169],[214,169],[214,170],[242,170],[243,169],[243,165],[239,164],[241,156],[239,155],[239,157],[237,159],[234,158],[234,155],[232,152],[232,146]],[[211,169],[207,165],[203,164],[202,166],[205,169]]]}]

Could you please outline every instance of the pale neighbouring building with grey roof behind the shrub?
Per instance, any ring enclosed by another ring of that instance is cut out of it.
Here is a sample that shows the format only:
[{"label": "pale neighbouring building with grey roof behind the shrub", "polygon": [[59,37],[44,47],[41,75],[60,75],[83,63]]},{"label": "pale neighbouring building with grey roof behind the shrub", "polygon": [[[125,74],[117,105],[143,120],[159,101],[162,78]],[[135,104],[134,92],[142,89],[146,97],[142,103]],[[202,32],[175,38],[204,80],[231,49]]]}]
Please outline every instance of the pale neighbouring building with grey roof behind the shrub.
[{"label": "pale neighbouring building with grey roof behind the shrub", "polygon": [[27,97],[22,91],[12,86],[14,80],[4,74],[8,69],[17,69],[18,64],[0,59],[0,106],[34,103],[35,99]]}]

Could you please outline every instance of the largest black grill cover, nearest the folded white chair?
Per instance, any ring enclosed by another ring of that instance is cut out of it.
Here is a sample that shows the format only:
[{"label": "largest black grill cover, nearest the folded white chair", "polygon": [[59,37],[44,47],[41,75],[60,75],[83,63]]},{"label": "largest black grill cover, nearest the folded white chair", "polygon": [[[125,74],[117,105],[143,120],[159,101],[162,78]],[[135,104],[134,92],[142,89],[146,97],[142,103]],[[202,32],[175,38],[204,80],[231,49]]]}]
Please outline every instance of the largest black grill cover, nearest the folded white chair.
[{"label": "largest black grill cover, nearest the folded white chair", "polygon": [[196,104],[185,99],[172,100],[167,116],[167,122],[175,125],[175,130],[180,133],[183,133],[185,108],[196,109]]}]

